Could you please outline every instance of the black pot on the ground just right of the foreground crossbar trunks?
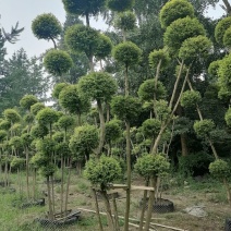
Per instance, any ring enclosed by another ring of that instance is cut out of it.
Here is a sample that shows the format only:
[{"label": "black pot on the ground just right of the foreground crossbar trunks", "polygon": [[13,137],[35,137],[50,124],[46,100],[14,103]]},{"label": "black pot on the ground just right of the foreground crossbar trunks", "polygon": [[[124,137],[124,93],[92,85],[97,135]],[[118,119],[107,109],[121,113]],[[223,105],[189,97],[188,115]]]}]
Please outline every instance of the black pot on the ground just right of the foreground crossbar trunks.
[{"label": "black pot on the ground just right of the foreground crossbar trunks", "polygon": [[[143,207],[143,198],[139,202],[139,207]],[[148,207],[148,198],[146,199],[146,206],[145,208],[147,209]],[[172,212],[174,211],[174,205],[173,202],[169,199],[163,199],[163,198],[158,198],[155,200],[153,205],[153,212],[157,214],[165,214],[165,212]]]}]

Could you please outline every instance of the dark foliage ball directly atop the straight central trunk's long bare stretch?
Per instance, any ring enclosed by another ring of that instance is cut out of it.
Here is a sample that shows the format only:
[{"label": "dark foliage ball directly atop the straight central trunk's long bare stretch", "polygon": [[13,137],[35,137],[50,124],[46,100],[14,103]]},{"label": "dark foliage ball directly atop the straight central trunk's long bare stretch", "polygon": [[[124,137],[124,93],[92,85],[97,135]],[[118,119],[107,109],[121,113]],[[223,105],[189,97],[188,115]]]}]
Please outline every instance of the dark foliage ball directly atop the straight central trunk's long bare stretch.
[{"label": "dark foliage ball directly atop the straight central trunk's long bare stretch", "polygon": [[111,101],[111,110],[120,120],[131,122],[141,113],[142,105],[131,96],[115,96]]}]

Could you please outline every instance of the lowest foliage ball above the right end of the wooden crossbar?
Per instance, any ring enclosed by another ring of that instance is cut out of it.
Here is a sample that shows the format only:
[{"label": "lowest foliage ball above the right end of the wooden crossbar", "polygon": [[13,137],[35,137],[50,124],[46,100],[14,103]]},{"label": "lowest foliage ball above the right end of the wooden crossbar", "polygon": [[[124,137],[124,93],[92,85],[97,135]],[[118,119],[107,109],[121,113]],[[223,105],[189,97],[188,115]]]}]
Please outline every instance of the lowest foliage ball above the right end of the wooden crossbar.
[{"label": "lowest foliage ball above the right end of the wooden crossbar", "polygon": [[139,175],[148,179],[166,174],[170,163],[161,154],[144,154],[137,159],[134,168]]}]

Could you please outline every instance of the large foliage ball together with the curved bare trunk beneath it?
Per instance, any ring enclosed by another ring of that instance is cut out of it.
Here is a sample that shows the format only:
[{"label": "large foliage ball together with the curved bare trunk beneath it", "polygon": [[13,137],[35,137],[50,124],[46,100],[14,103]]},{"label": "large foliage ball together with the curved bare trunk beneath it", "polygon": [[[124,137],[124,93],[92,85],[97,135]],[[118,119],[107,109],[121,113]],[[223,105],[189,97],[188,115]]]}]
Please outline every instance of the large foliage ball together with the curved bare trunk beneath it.
[{"label": "large foliage ball together with the curved bare trunk beneath it", "polygon": [[109,102],[117,92],[117,84],[106,72],[92,72],[78,82],[80,94],[90,100],[96,100],[100,120],[100,137],[96,155],[101,153],[105,143],[104,102]]}]

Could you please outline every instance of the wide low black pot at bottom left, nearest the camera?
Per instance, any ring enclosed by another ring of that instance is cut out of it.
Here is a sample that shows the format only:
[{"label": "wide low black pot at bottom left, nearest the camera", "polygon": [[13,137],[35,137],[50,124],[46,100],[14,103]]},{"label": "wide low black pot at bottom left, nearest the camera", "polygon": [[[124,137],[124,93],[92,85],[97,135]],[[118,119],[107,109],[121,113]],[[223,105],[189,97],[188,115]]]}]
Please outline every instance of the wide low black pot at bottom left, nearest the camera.
[{"label": "wide low black pot at bottom left, nearest the camera", "polygon": [[81,211],[69,210],[69,214],[65,217],[59,218],[60,214],[57,214],[54,220],[50,220],[47,217],[36,218],[35,221],[38,222],[44,228],[63,228],[69,224],[73,224],[78,221],[81,217]]}]

